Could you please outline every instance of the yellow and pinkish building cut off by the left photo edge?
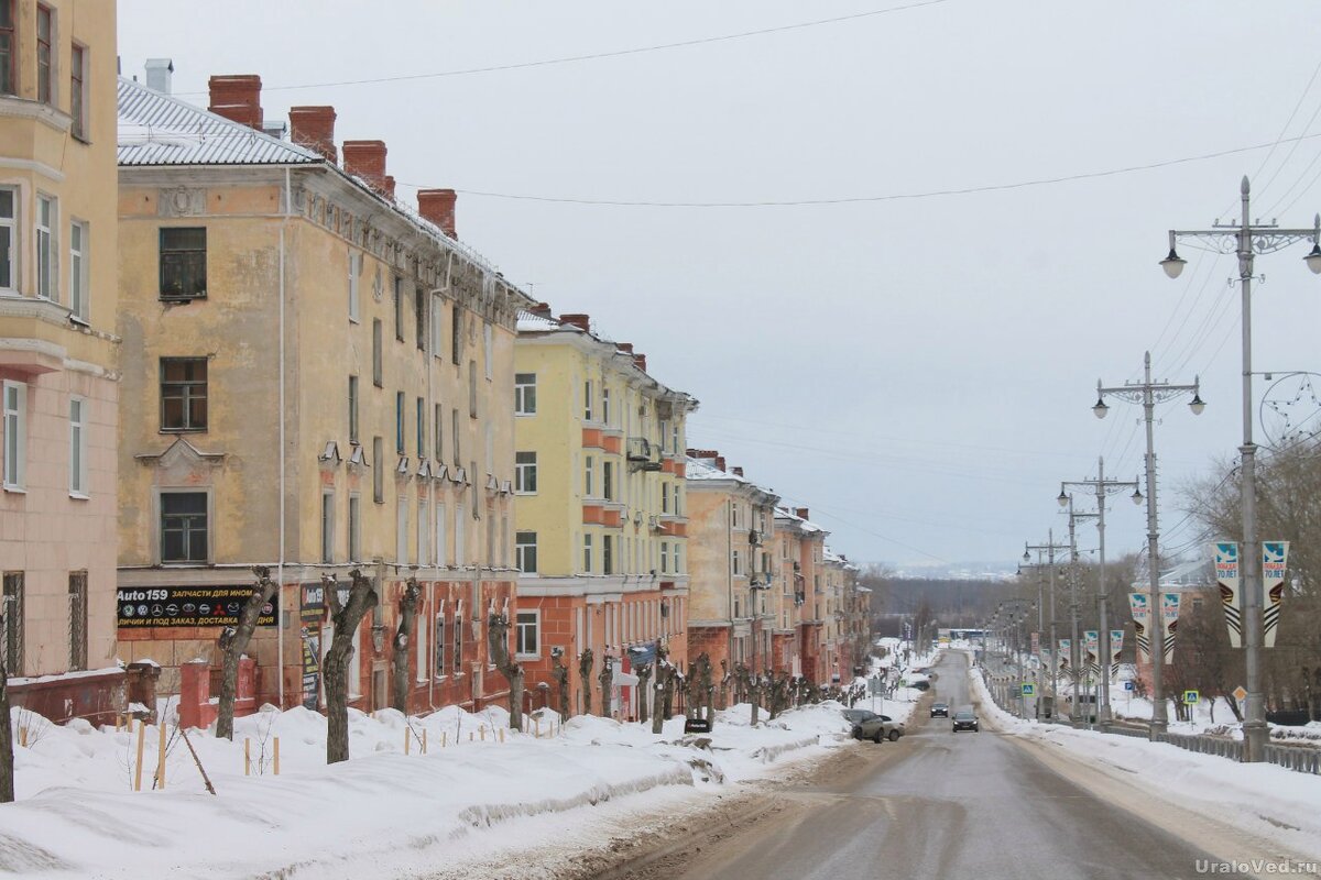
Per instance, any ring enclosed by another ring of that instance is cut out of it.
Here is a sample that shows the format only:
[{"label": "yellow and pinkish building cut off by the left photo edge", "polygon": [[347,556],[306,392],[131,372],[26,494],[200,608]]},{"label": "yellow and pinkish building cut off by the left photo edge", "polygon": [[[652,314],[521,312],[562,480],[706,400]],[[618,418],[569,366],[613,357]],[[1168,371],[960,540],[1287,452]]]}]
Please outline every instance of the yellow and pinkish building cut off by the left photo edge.
[{"label": "yellow and pinkish building cut off by the left photo edge", "polygon": [[[115,3],[0,3],[0,567],[9,676],[114,666]],[[11,681],[110,720],[118,669]],[[70,683],[77,682],[77,685]]]}]

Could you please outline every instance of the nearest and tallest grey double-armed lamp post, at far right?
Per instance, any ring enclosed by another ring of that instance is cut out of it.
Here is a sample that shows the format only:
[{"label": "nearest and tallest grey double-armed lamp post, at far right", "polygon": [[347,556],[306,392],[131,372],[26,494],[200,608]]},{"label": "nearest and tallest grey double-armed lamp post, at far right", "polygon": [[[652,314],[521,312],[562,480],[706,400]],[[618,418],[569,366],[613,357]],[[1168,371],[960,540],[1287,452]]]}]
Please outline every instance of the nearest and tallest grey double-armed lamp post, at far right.
[{"label": "nearest and tallest grey double-armed lamp post, at far right", "polygon": [[[1312,241],[1312,251],[1303,257],[1306,267],[1321,274],[1321,214],[1310,230],[1281,230],[1275,223],[1254,222],[1248,212],[1251,186],[1247,177],[1239,185],[1242,212],[1238,224],[1213,223],[1210,230],[1170,230],[1169,256],[1160,261],[1165,274],[1177,278],[1185,260],[1174,251],[1178,239],[1196,239],[1219,253],[1235,253],[1239,263],[1239,292],[1243,318],[1243,445],[1240,497],[1243,513],[1243,546],[1239,565],[1243,571],[1243,665],[1247,673],[1247,707],[1243,720],[1243,760],[1266,760],[1269,731],[1266,726],[1266,699],[1262,693],[1262,544],[1256,534],[1256,445],[1252,442],[1252,261],[1258,253],[1273,253],[1299,241]],[[1153,608],[1153,612],[1157,610]]]}]

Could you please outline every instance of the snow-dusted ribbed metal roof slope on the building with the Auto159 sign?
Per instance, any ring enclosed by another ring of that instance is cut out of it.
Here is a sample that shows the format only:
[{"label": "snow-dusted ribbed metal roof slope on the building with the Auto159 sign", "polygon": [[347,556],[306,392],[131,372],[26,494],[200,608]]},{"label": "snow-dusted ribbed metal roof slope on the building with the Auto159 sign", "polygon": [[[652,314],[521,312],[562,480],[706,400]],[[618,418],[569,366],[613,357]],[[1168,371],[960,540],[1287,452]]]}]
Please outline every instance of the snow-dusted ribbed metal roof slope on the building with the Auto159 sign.
[{"label": "snow-dusted ribbed metal roof slope on the building with the Auto159 sign", "polygon": [[312,165],[325,158],[291,141],[119,78],[119,164]]}]

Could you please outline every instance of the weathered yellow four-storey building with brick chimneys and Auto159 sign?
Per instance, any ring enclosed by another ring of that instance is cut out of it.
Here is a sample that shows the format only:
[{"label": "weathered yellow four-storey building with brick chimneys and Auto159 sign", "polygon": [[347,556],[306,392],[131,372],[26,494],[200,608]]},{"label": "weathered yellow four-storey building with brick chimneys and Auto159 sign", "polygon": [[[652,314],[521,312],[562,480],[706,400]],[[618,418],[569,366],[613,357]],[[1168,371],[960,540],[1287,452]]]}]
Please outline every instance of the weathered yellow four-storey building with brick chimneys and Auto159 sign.
[{"label": "weathered yellow four-storey building with brick chimneys and Auto159 sign", "polygon": [[291,140],[258,77],[213,77],[210,112],[119,83],[122,650],[215,662],[230,592],[263,563],[279,615],[250,653],[260,699],[318,705],[322,573],[382,603],[350,699],[390,701],[404,579],[413,711],[505,691],[486,620],[513,602],[514,332],[530,301],[454,235],[454,194],[394,198],[380,141]]}]

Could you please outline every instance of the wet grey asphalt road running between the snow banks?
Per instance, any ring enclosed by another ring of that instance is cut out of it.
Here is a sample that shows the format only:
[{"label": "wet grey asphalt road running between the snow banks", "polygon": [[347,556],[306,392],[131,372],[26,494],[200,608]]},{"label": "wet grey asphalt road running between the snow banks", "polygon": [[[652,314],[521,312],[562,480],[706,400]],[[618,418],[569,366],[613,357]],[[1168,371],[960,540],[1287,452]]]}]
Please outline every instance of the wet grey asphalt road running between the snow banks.
[{"label": "wet grey asphalt road running between the snow banks", "polygon": [[[948,653],[935,699],[970,705],[967,660]],[[1196,877],[1205,851],[1139,821],[983,728],[914,718],[852,778],[781,794],[790,809],[703,847],[690,880]],[[889,749],[889,751],[885,751]]]}]

